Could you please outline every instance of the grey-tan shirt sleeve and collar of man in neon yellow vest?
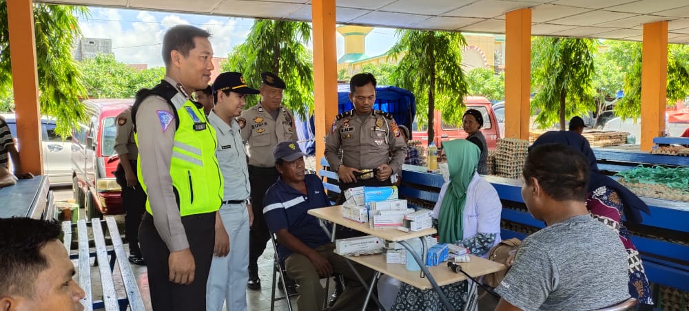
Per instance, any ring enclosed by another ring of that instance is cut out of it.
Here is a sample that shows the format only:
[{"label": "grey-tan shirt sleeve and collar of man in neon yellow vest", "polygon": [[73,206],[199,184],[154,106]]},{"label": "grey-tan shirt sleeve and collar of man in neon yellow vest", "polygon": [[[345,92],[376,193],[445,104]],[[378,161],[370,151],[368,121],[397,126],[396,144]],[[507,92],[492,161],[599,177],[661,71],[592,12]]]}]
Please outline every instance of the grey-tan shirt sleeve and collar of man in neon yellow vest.
[{"label": "grey-tan shirt sleeve and collar of man in neon yellow vest", "polygon": [[[189,99],[189,94],[183,92],[181,84],[169,76],[165,76],[165,81],[177,86],[180,94]],[[169,115],[173,117],[168,118]],[[182,217],[179,215],[179,208],[172,191],[170,176],[176,127],[177,119],[174,118],[174,111],[165,98],[157,95],[148,96],[138,107],[136,133],[141,178],[146,185],[146,194],[154,215],[156,230],[170,252],[189,248]]]}]

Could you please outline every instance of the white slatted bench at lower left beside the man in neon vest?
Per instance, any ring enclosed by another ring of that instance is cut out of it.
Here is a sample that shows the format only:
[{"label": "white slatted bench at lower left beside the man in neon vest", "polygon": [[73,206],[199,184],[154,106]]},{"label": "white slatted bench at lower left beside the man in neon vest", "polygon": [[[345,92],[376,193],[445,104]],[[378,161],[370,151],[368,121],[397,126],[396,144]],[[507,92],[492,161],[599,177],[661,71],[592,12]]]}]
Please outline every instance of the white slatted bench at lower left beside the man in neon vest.
[{"label": "white slatted bench at lower left beside the man in neon vest", "polygon": [[[105,244],[105,234],[103,232],[102,224],[107,224],[107,230],[110,233],[112,245]],[[67,252],[70,253],[70,259],[79,259],[79,266],[76,269],[79,272],[79,286],[86,292],[86,297],[81,299],[81,304],[84,305],[85,310],[90,311],[94,309],[103,309],[106,311],[115,310],[130,310],[138,311],[145,310],[143,299],[141,299],[141,292],[136,285],[136,277],[132,272],[132,267],[127,261],[122,238],[114,217],[105,217],[104,220],[94,218],[91,222],[93,232],[95,249],[91,250],[89,246],[89,229],[86,220],[79,220],[76,223],[76,233],[79,239],[79,249],[76,253],[72,253],[72,228],[74,225],[71,222],[63,222],[62,230],[64,233],[63,243]],[[101,278],[101,294],[94,294],[92,288],[92,279],[96,277],[91,275],[91,257],[96,257],[94,266],[98,266],[99,275]],[[125,297],[117,297],[113,272],[115,262],[119,267],[119,275],[122,278]],[[107,264],[106,264],[107,263]]]}]

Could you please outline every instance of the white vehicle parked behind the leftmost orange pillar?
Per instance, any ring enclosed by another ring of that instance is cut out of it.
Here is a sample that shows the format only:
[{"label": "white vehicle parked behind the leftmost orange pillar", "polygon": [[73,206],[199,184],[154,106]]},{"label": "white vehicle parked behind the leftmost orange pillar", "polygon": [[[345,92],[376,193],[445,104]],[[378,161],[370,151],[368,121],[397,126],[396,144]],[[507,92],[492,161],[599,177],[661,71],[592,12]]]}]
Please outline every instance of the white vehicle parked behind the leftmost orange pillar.
[{"label": "white vehicle parked behind the leftmost orange pillar", "polygon": [[[17,118],[14,114],[3,114],[12,137],[17,140]],[[41,147],[43,149],[43,171],[48,176],[51,186],[70,184],[72,182],[72,169],[70,156],[72,150],[72,138],[62,138],[55,133],[55,120],[49,117],[41,118]],[[17,142],[19,149],[19,142]],[[12,161],[10,161],[12,166]],[[12,171],[12,168],[10,168]]]}]

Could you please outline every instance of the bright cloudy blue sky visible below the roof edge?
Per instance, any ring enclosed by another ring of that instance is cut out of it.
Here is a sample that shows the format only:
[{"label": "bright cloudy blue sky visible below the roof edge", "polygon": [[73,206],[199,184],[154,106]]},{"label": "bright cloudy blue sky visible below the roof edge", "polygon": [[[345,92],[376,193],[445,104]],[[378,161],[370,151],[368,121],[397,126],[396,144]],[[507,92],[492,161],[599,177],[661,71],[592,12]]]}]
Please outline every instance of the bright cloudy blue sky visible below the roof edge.
[{"label": "bright cloudy blue sky visible below the roof edge", "polygon": [[[161,66],[161,42],[165,30],[185,23],[209,30],[215,56],[226,57],[234,45],[243,43],[253,19],[180,14],[140,10],[90,8],[90,17],[79,19],[81,31],[90,38],[112,39],[115,58],[123,63]],[[344,54],[344,39],[338,36],[338,58]],[[395,43],[394,30],[374,28],[366,38],[366,54],[387,52]],[[309,48],[311,46],[309,45]]]}]

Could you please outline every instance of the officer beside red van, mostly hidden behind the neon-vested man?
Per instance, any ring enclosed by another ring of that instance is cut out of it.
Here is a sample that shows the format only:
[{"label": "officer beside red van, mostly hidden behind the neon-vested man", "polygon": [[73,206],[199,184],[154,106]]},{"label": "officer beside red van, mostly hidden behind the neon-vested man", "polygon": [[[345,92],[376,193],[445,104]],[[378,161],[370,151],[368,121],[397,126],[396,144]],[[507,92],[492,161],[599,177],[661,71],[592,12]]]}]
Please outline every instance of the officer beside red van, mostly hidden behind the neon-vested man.
[{"label": "officer beside red van, mostly hidden behind the neon-vested man", "polygon": [[141,249],[138,247],[138,226],[146,210],[146,193],[138,184],[136,175],[136,158],[138,148],[134,141],[134,122],[132,122],[132,108],[127,108],[117,116],[117,132],[115,136],[115,152],[120,157],[120,163],[115,170],[115,178],[122,188],[122,205],[125,215],[125,239],[130,246],[129,261],[132,264],[144,265]]}]

